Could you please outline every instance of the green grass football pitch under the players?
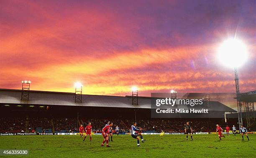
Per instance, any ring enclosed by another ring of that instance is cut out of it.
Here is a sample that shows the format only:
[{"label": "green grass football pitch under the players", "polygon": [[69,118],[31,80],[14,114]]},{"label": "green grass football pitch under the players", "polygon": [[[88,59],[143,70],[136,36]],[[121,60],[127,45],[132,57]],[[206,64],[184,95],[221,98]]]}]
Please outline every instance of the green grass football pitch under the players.
[{"label": "green grass football pitch under the players", "polygon": [[[131,135],[114,135],[110,148],[100,147],[101,135],[92,135],[83,142],[79,135],[15,135],[0,136],[0,149],[29,150],[26,157],[256,157],[256,135],[250,141],[241,135],[230,135],[219,140],[217,134],[193,135],[143,135],[145,143],[137,147]],[[3,157],[3,154],[1,155]],[[5,157],[22,157],[9,155]]]}]

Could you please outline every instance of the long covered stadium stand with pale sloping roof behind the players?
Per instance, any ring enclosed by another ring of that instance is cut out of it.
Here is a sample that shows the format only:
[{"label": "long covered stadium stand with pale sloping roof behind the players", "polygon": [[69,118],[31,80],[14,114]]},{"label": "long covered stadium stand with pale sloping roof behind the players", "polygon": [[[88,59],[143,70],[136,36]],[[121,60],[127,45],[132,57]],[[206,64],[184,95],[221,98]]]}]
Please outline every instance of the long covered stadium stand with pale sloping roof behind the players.
[{"label": "long covered stadium stand with pale sloping roof behind the players", "polygon": [[[151,118],[151,98],[139,97],[131,104],[131,96],[82,95],[82,103],[74,102],[74,93],[30,91],[29,100],[20,100],[20,90],[0,89],[0,131],[24,130],[38,133],[78,132],[80,124],[92,122],[93,132],[100,133],[107,120],[129,132],[135,121],[144,132],[183,132],[191,122],[195,132],[215,132],[218,123],[225,127],[225,112],[236,112],[220,102],[211,102],[209,109],[218,118]],[[4,123],[5,122],[5,123]],[[237,118],[228,118],[228,125],[237,125]]]}]

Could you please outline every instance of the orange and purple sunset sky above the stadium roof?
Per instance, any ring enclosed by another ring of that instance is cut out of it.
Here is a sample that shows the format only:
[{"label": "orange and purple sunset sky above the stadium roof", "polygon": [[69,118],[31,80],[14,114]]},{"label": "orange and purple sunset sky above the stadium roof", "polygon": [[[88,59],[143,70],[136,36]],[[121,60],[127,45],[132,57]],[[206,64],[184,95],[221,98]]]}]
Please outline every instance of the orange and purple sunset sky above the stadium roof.
[{"label": "orange and purple sunset sky above the stadium roof", "polygon": [[0,88],[83,94],[236,92],[220,44],[241,39],[256,90],[256,0],[0,0]]}]

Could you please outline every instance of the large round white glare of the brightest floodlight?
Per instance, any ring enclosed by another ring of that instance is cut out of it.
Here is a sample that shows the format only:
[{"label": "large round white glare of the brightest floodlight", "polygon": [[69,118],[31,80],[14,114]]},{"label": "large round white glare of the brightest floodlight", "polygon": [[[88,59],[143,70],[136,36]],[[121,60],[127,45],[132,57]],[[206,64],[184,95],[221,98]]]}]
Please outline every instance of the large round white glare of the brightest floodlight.
[{"label": "large round white glare of the brightest floodlight", "polygon": [[218,49],[219,61],[228,67],[239,67],[248,58],[246,45],[238,39],[224,41]]}]

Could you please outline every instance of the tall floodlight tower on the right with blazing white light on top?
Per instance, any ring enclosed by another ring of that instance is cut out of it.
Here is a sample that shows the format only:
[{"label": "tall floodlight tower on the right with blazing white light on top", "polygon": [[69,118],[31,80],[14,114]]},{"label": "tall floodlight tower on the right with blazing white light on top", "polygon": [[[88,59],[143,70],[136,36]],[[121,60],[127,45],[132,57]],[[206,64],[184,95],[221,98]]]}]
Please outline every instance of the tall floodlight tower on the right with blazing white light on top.
[{"label": "tall floodlight tower on the right with blazing white light on top", "polygon": [[[224,41],[218,51],[218,58],[222,64],[235,69],[236,95],[240,93],[237,68],[246,61],[247,57],[246,45],[236,38]],[[242,106],[243,104],[237,100],[239,127],[243,124]]]}]

